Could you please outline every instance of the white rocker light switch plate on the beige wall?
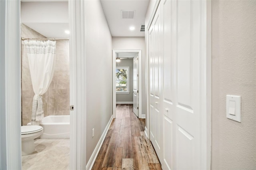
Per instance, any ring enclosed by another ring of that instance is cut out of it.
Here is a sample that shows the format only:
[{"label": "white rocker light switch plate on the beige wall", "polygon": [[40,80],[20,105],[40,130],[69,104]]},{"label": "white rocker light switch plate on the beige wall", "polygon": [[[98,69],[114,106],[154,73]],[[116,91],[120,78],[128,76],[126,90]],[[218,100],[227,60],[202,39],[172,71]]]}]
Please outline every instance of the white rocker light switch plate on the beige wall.
[{"label": "white rocker light switch plate on the beige wall", "polygon": [[226,116],[228,119],[241,122],[241,96],[226,96]]}]

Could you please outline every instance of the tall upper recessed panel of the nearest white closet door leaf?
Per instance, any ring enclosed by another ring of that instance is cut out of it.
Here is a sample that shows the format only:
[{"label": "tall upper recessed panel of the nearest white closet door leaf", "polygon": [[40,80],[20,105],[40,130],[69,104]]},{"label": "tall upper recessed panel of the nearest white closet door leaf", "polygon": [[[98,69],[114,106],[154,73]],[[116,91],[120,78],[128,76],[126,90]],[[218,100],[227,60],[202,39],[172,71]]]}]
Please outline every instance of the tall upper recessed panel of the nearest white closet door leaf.
[{"label": "tall upper recessed panel of the nearest white closet door leaf", "polygon": [[191,55],[191,2],[178,1],[178,105],[193,112],[191,106],[191,89],[193,68]]}]

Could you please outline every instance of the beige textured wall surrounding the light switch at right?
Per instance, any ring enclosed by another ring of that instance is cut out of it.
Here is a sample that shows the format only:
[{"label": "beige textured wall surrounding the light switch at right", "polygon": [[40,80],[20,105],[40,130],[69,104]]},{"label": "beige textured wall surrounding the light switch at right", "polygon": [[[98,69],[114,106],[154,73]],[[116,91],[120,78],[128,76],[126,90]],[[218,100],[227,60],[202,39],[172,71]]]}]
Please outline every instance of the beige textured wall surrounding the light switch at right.
[{"label": "beige textured wall surrounding the light switch at right", "polygon": [[[226,118],[241,95],[241,123]],[[256,1],[212,1],[212,169],[256,168]]]}]

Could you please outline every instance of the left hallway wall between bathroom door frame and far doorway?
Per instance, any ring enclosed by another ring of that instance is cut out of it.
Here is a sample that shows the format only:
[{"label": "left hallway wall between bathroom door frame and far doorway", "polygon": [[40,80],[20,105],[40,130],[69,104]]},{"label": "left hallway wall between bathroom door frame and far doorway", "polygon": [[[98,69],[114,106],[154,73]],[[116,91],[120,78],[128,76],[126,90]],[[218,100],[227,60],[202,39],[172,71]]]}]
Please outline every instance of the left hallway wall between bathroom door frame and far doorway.
[{"label": "left hallway wall between bathroom door frame and far doorway", "polygon": [[[86,3],[86,163],[112,116],[112,36],[100,0]],[[92,128],[94,137],[92,138]]]}]

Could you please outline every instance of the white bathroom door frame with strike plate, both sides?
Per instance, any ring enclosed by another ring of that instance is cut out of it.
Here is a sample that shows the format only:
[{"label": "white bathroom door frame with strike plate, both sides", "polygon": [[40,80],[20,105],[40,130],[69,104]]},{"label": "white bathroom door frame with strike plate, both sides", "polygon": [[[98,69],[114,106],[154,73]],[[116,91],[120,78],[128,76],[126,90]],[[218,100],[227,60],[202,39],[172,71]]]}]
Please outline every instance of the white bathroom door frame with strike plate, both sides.
[{"label": "white bathroom door frame with strike plate, both sides", "polygon": [[[86,169],[84,1],[69,0],[70,169]],[[0,169],[22,169],[20,0],[0,1]],[[16,50],[13,50],[16,49]],[[83,77],[81,79],[81,77]]]}]

